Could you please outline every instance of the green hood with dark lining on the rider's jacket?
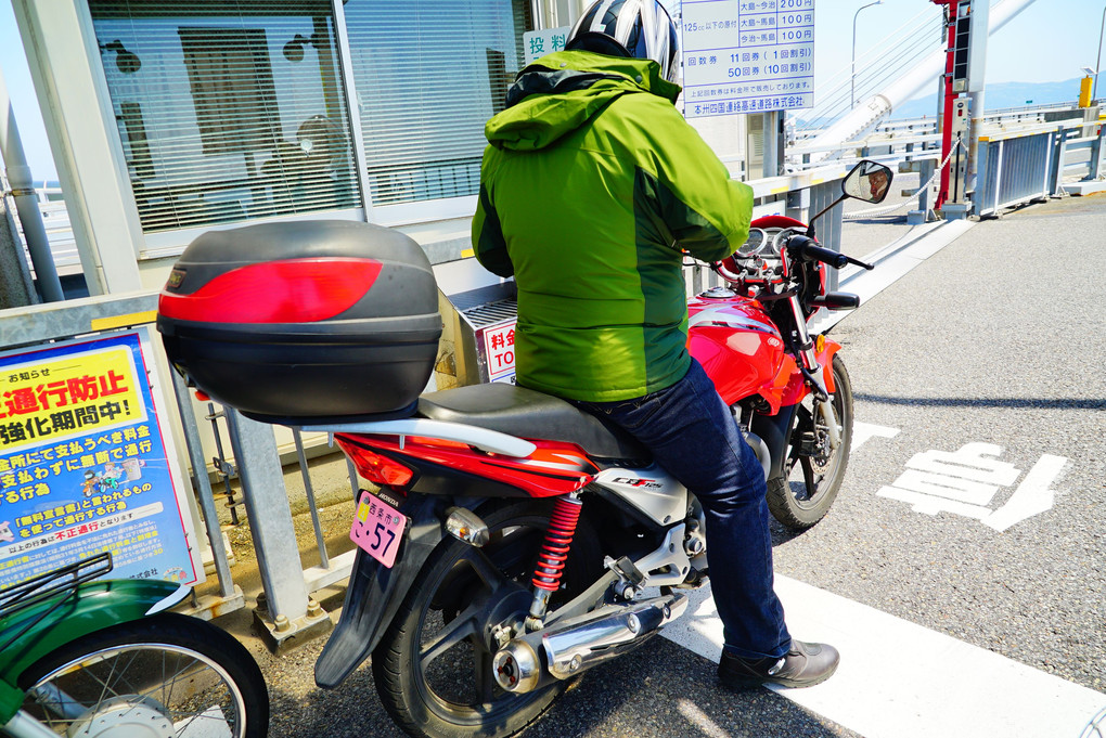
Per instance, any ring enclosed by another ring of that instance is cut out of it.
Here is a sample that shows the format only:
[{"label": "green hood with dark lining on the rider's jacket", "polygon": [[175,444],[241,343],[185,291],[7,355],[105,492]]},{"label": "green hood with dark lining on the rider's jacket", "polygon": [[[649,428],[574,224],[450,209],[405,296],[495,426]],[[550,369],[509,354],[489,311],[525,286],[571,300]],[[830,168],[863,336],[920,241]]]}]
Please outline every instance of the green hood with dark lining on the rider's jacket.
[{"label": "green hood with dark lining on the rider's jacket", "polygon": [[488,141],[501,149],[545,148],[576,130],[615,98],[648,93],[671,103],[680,94],[660,76],[660,65],[585,51],[542,56],[519,73],[507,93],[507,109],[484,126]]}]

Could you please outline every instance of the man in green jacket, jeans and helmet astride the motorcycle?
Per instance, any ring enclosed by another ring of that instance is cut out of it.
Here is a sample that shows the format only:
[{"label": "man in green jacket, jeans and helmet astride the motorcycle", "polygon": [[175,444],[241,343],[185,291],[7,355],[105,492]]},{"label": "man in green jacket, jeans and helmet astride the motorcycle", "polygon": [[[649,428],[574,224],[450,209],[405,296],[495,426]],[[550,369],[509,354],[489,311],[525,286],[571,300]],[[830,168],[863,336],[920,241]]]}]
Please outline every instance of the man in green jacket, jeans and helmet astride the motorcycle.
[{"label": "man in green jacket, jeans and helmet astride the motorcycle", "polygon": [[622,425],[702,504],[723,683],[810,686],[837,652],[791,639],[763,472],[687,351],[681,251],[732,253],[752,191],[676,109],[677,46],[656,0],[585,10],[566,51],[523,70],[488,122],[472,242],[518,285],[519,384]]}]

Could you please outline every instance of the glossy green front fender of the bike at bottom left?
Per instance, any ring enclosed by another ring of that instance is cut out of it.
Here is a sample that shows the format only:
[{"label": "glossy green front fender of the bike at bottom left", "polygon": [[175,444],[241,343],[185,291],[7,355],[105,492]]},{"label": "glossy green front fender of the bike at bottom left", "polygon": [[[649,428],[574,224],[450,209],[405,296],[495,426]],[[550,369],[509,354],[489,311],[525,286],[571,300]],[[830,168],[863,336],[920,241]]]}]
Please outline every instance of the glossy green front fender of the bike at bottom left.
[{"label": "glossy green front fender of the bike at bottom left", "polygon": [[[27,667],[51,651],[95,631],[170,607],[181,591],[187,593],[188,588],[153,579],[111,579],[82,584],[72,593],[0,618],[0,643],[30,626],[0,652],[0,679],[18,687],[19,676]],[[64,601],[50,612],[59,600]]]}]

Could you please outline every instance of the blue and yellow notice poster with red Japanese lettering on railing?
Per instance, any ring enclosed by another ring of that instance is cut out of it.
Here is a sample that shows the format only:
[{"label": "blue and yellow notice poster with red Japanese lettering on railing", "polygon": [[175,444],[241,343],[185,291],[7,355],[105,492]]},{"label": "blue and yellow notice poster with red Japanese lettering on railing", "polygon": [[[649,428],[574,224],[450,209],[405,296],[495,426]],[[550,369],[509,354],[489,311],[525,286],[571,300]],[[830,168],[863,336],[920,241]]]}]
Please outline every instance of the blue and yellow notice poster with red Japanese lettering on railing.
[{"label": "blue and yellow notice poster with red Japanese lettering on railing", "polygon": [[0,354],[0,588],[111,551],[204,580],[146,328]]}]

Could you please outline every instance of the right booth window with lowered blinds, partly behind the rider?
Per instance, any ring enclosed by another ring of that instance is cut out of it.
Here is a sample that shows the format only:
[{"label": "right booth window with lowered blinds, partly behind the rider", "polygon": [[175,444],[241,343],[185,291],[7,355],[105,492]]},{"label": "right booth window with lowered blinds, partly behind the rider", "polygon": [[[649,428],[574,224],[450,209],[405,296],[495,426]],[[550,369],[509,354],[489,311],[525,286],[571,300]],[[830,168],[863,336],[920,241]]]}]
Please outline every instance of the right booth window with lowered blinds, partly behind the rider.
[{"label": "right booth window with lowered blinds, partly behind the rider", "polygon": [[529,0],[348,0],[344,13],[374,205],[477,193]]}]

